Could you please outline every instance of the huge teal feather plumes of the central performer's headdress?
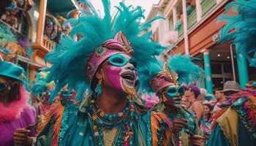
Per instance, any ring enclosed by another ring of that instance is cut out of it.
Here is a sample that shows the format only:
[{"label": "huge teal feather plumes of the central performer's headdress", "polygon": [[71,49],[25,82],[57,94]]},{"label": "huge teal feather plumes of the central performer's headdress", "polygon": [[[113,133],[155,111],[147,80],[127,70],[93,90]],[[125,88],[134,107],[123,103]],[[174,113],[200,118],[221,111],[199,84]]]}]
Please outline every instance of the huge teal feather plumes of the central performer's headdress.
[{"label": "huge teal feather plumes of the central performer's headdress", "polygon": [[[69,91],[77,92],[77,100],[83,99],[86,90],[91,91],[91,80],[86,70],[89,57],[97,47],[113,39],[119,31],[129,40],[134,52],[132,57],[138,62],[138,66],[150,66],[154,55],[165,50],[165,47],[151,40],[151,32],[141,35],[152,22],[140,26],[140,20],[144,18],[141,7],[127,7],[120,3],[116,7],[116,15],[111,17],[110,1],[102,0],[104,16],[100,16],[89,1],[84,2],[90,11],[81,12],[78,19],[67,20],[66,23],[72,26],[71,37],[62,37],[59,45],[45,57],[45,61],[52,64],[49,69],[45,69],[50,72],[47,80],[56,82],[50,102],[65,85],[68,85]],[[74,36],[77,34],[81,39],[75,41]]]}]

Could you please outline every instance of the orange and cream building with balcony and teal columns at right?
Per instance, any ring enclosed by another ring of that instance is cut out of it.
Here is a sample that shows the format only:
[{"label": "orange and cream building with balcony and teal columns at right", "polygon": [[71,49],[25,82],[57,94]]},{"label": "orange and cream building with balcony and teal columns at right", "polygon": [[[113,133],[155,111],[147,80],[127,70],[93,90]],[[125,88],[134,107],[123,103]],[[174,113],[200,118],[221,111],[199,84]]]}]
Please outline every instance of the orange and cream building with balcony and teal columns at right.
[{"label": "orange and cream building with balcony and teal columns at right", "polygon": [[[246,82],[255,80],[255,69],[248,66],[246,58],[236,53],[230,43],[219,44],[219,31],[224,22],[218,22],[230,0],[160,0],[155,4],[146,20],[163,16],[151,31],[152,39],[162,45],[176,45],[168,53],[187,54],[200,58],[195,62],[205,69],[205,77],[197,84],[213,93],[222,88],[227,80],[235,80],[245,88]],[[230,15],[236,15],[232,10]],[[157,38],[157,39],[156,39]]]}]

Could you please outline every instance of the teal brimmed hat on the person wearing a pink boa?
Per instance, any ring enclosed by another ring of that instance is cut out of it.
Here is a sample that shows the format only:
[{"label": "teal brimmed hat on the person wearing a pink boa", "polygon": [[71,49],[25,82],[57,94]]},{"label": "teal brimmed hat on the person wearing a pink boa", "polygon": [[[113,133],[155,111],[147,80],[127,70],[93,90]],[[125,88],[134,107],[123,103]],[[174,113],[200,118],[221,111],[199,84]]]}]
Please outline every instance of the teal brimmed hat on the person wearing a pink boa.
[{"label": "teal brimmed hat on the person wearing a pink boa", "polygon": [[0,61],[0,75],[11,77],[16,80],[20,80],[21,82],[23,79],[21,78],[21,74],[23,73],[23,69],[20,66],[12,64],[7,61]]}]

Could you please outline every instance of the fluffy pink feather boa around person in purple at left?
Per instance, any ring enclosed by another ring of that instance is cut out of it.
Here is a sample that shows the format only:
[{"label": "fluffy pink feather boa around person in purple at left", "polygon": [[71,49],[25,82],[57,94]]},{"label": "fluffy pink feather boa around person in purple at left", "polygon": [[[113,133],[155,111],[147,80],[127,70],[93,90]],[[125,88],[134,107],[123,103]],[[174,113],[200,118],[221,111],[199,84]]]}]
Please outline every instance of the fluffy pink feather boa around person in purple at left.
[{"label": "fluffy pink feather boa around person in purple at left", "polygon": [[12,101],[8,107],[0,102],[0,122],[15,120],[20,117],[20,113],[29,104],[29,96],[23,85],[20,85],[20,99]]}]

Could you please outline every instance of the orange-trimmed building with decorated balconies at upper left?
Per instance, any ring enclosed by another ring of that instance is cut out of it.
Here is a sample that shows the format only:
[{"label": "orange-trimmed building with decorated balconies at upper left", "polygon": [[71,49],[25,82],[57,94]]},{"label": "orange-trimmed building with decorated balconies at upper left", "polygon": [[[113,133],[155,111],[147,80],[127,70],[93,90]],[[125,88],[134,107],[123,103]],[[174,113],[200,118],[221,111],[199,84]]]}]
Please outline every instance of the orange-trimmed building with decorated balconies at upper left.
[{"label": "orange-trimmed building with decorated balconies at upper left", "polygon": [[11,50],[12,62],[23,66],[32,81],[35,72],[50,66],[45,64],[45,55],[61,36],[69,35],[71,26],[64,21],[77,18],[76,9],[83,5],[75,0],[2,0],[0,8],[0,29],[15,36],[13,40],[0,39],[0,47]]}]

